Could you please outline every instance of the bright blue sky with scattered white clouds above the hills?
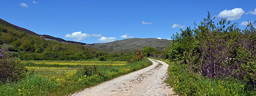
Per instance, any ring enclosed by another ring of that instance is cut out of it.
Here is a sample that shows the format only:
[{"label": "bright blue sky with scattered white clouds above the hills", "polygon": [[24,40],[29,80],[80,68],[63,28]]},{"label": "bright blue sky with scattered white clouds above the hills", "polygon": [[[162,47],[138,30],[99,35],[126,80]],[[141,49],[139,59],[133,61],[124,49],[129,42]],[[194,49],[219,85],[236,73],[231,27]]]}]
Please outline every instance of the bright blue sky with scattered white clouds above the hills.
[{"label": "bright blue sky with scattered white clouds above the hills", "polygon": [[126,38],[169,39],[207,17],[244,28],[256,0],[2,0],[0,18],[17,26],[84,43]]}]

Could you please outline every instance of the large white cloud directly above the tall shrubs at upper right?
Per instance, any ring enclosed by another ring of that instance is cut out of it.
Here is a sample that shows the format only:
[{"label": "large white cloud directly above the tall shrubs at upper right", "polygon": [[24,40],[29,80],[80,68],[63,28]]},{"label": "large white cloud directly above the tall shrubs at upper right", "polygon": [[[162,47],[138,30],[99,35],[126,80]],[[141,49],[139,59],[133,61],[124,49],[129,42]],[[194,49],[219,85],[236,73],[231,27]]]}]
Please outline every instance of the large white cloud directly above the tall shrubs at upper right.
[{"label": "large white cloud directly above the tall shrubs at upper right", "polygon": [[218,14],[218,17],[227,18],[229,20],[237,20],[237,19],[241,18],[241,16],[243,15],[244,12],[245,11],[243,11],[242,8],[235,8],[232,10],[225,9]]}]

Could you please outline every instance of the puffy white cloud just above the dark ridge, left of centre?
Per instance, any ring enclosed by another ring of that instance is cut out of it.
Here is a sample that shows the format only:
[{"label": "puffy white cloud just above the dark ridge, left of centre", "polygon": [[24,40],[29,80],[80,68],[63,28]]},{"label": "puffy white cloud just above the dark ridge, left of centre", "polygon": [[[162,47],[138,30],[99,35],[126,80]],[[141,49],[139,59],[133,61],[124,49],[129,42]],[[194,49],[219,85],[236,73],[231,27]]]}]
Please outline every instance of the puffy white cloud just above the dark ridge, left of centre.
[{"label": "puffy white cloud just above the dark ridge, left of centre", "polygon": [[74,39],[75,41],[81,41],[84,38],[90,37],[90,35],[86,34],[86,33],[82,33],[81,31],[78,31],[78,32],[73,32],[72,34],[67,34],[64,37],[65,38],[76,38],[76,39]]}]

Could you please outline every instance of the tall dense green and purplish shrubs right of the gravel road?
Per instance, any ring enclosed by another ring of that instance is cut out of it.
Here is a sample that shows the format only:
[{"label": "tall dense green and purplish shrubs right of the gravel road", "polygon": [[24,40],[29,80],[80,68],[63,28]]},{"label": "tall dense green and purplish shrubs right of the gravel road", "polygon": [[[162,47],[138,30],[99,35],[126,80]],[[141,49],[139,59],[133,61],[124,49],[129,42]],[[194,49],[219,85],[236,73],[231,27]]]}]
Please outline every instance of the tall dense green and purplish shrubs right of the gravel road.
[{"label": "tall dense green and purplish shrubs right of the gravel road", "polygon": [[215,24],[208,15],[191,30],[172,36],[169,57],[182,60],[187,70],[209,78],[238,78],[256,84],[256,29],[250,23],[245,30],[222,19]]}]

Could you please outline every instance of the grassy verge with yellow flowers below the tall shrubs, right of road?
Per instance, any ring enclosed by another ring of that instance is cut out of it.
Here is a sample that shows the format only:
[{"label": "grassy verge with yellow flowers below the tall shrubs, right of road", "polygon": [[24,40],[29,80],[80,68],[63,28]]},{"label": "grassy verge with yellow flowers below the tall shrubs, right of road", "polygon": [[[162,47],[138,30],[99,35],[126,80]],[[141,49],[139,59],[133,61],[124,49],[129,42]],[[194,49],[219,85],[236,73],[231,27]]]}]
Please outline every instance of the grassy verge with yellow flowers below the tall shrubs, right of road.
[{"label": "grassy verge with yellow flowers below the tall shrubs, right of road", "polygon": [[179,96],[256,96],[256,89],[240,80],[211,79],[186,71],[185,65],[179,61],[152,59],[162,60],[169,65],[166,82]]}]

